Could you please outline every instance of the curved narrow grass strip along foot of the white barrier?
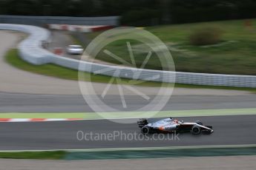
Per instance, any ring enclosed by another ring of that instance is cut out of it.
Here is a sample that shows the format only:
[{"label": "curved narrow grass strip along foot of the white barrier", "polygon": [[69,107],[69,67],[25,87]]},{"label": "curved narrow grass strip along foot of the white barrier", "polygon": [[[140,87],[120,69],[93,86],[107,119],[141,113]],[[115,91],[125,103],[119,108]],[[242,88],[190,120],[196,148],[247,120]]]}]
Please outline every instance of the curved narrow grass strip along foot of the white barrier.
[{"label": "curved narrow grass strip along foot of the white barrier", "polygon": [[[55,78],[62,78],[67,80],[78,80],[78,71],[74,69],[68,69],[65,67],[60,67],[55,64],[44,64],[36,66],[29,64],[26,61],[23,61],[19,58],[18,50],[12,49],[9,50],[5,56],[5,60],[8,64],[19,69],[23,69],[27,72],[34,72],[41,75],[52,76]],[[91,77],[91,79],[88,78]],[[88,79],[86,79],[88,78]],[[85,81],[91,81],[96,83],[108,83],[111,80],[111,77],[105,75],[93,75],[91,73],[85,72]],[[141,81],[134,81],[122,78],[122,84],[137,84],[138,86],[169,86],[169,84],[146,81],[141,83]],[[114,82],[116,83],[116,82]],[[256,88],[246,88],[246,87],[229,87],[229,86],[200,86],[200,85],[190,85],[190,84],[175,84],[175,87],[183,88],[196,88],[196,89],[233,89],[233,90],[246,90],[250,92],[256,92]]]}]

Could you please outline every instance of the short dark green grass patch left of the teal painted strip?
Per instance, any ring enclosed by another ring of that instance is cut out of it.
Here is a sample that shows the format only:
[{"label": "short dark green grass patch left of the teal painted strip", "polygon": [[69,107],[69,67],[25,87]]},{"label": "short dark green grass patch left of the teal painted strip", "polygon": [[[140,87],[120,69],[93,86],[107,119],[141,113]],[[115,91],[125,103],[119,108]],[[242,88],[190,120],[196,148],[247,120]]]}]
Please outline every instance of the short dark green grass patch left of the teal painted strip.
[{"label": "short dark green grass patch left of the teal painted strip", "polygon": [[63,160],[67,152],[0,152],[4,159],[36,159],[36,160]]}]

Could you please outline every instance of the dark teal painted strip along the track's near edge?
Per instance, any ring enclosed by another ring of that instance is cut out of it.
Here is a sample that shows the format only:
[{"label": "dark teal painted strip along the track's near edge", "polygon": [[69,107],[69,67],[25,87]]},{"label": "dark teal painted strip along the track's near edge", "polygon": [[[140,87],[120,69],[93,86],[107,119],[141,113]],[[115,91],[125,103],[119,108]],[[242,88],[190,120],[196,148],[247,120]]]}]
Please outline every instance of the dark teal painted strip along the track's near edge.
[{"label": "dark teal painted strip along the track's near edge", "polygon": [[65,160],[138,159],[157,157],[216,157],[255,155],[256,147],[246,148],[200,148],[136,151],[67,152]]}]

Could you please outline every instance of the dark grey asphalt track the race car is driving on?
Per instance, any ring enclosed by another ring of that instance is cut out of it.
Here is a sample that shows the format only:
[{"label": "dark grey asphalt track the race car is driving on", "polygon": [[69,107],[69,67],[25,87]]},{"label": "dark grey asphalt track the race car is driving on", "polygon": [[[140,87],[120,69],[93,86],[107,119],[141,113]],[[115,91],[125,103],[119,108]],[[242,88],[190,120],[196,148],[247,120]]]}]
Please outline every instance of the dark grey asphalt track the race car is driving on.
[{"label": "dark grey asphalt track the race car is driving on", "polygon": [[[143,135],[136,124],[113,123],[108,120],[82,120],[70,122],[45,122],[45,123],[0,123],[0,149],[94,149],[94,148],[124,148],[124,147],[149,147],[149,146],[212,146],[212,145],[237,145],[254,144],[256,141],[256,115],[250,116],[222,116],[203,118],[183,118],[186,121],[202,120],[203,123],[212,125],[214,133],[211,135],[191,134],[178,135],[168,140],[138,140]],[[114,131],[122,132],[119,137],[107,140],[97,140],[87,136],[87,140],[77,139],[77,132],[92,132],[94,135],[113,134]],[[137,132],[136,137],[128,134]],[[127,138],[125,140],[125,136]]]}]

